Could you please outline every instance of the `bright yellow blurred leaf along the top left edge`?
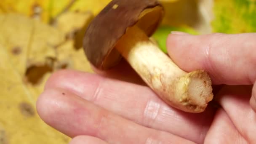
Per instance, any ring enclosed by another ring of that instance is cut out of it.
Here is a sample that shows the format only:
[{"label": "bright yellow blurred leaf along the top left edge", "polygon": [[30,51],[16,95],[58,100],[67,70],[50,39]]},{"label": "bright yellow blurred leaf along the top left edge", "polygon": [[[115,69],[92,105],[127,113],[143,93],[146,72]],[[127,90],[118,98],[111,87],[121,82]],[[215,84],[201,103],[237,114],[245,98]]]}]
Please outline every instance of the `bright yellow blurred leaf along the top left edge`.
[{"label": "bright yellow blurred leaf along the top left edge", "polygon": [[45,23],[67,11],[99,13],[110,0],[1,0],[0,13],[21,13]]}]

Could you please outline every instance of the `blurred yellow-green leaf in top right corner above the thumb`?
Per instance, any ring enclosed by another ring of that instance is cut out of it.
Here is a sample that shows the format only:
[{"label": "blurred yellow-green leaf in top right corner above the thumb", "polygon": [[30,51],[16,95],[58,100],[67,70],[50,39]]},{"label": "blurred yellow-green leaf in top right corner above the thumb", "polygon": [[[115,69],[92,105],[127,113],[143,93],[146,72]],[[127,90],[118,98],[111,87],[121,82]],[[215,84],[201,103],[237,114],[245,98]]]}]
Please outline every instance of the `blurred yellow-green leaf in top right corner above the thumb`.
[{"label": "blurred yellow-green leaf in top right corner above the thumb", "polygon": [[213,32],[256,32],[255,0],[215,0]]}]

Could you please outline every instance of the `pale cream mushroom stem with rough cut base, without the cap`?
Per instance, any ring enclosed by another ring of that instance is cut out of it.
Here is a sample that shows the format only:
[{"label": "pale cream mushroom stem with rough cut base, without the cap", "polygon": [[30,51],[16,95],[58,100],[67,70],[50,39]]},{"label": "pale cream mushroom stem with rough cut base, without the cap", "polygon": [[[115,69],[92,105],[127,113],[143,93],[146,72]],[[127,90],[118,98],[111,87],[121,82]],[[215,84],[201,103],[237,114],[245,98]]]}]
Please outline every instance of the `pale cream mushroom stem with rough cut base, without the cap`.
[{"label": "pale cream mushroom stem with rough cut base, without the cap", "polygon": [[211,79],[203,70],[185,72],[137,26],[128,28],[116,49],[167,104],[185,112],[203,112],[213,99]]}]

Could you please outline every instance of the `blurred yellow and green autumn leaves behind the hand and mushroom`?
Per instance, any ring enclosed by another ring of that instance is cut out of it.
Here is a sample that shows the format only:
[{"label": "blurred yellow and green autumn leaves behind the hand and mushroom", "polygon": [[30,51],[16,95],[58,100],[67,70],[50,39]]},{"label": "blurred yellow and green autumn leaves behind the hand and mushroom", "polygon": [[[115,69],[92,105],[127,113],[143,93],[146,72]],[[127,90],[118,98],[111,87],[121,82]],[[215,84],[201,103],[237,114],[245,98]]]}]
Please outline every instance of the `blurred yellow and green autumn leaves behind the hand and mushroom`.
[{"label": "blurred yellow and green autumn leaves behind the hand and mushroom", "polygon": [[[36,100],[56,70],[93,73],[83,53],[83,34],[109,1],[0,1],[0,144],[68,143],[69,137],[37,115]],[[256,0],[160,1],[165,18],[152,38],[164,52],[171,31],[256,32]]]}]

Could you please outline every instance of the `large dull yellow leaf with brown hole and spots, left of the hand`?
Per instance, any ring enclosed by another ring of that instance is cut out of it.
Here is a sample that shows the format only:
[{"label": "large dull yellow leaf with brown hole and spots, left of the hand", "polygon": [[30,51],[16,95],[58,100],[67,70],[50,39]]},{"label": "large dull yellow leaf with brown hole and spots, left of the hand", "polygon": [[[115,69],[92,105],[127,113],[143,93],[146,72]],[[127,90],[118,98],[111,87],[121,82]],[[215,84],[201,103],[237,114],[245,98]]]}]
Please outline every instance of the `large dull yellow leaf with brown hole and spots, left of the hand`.
[{"label": "large dull yellow leaf with brown hole and spots, left of the hand", "polygon": [[[90,17],[85,16],[72,27],[83,29]],[[67,144],[69,137],[40,119],[35,102],[54,71],[93,72],[83,49],[66,39],[67,31],[26,16],[0,15],[0,24],[0,144]]]}]

